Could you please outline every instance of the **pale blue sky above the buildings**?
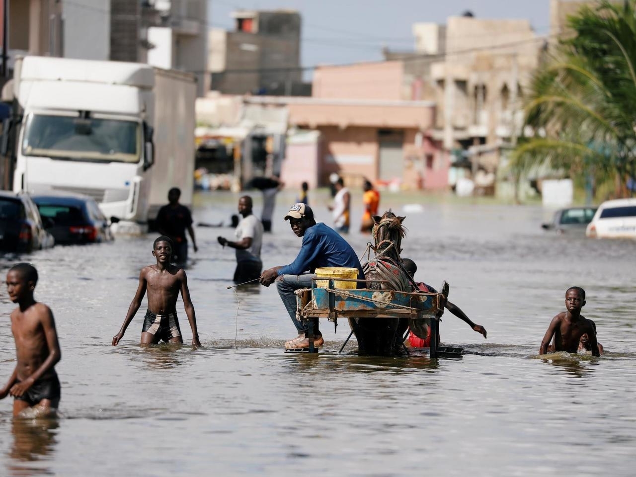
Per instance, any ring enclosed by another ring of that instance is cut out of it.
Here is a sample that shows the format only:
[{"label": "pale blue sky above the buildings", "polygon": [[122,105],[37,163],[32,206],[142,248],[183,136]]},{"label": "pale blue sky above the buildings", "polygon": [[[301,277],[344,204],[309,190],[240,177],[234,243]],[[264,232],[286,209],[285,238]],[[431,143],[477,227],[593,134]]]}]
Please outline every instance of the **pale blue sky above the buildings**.
[{"label": "pale blue sky above the buildings", "polygon": [[470,10],[481,18],[526,18],[548,32],[550,0],[209,0],[208,22],[232,29],[239,8],[300,11],[303,66],[382,59],[382,47],[413,50],[411,24],[445,23]]}]

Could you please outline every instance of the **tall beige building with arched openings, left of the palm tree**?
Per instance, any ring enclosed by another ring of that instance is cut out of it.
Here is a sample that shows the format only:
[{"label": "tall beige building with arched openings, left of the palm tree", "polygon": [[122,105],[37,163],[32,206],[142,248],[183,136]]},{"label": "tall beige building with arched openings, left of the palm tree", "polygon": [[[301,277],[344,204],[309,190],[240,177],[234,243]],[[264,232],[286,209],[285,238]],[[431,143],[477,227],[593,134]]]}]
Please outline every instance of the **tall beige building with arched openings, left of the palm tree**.
[{"label": "tall beige building with arched openings, left of the palm tree", "polygon": [[524,89],[545,43],[527,20],[448,18],[445,57],[431,64],[438,104],[433,137],[452,152],[458,166],[452,172],[481,177],[485,193],[494,193],[501,146],[521,133]]}]

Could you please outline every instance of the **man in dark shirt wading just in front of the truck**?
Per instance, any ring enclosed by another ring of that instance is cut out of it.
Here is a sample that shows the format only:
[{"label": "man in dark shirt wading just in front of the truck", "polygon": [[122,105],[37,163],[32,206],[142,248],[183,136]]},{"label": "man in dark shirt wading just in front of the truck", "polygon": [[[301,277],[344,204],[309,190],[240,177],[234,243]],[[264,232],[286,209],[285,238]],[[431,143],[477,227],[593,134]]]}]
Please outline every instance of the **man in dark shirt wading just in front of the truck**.
[{"label": "man in dark shirt wading just in front of the truck", "polygon": [[168,191],[168,202],[159,209],[157,214],[157,228],[162,235],[167,235],[174,244],[172,250],[172,261],[177,263],[186,263],[188,259],[188,239],[186,239],[186,229],[190,233],[192,239],[192,247],[197,248],[197,240],[195,240],[195,231],[192,228],[192,216],[188,207],[179,204],[181,190],[173,187]]}]

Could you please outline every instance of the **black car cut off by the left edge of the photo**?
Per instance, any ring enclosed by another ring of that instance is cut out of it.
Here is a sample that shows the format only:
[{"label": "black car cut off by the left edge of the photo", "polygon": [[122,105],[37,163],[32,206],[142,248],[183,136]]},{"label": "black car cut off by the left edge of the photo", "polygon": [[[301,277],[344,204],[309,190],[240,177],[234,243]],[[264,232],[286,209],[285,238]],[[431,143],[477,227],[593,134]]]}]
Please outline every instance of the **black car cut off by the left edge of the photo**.
[{"label": "black car cut off by the left edge of the photo", "polygon": [[0,191],[0,250],[31,252],[54,243],[29,194]]}]

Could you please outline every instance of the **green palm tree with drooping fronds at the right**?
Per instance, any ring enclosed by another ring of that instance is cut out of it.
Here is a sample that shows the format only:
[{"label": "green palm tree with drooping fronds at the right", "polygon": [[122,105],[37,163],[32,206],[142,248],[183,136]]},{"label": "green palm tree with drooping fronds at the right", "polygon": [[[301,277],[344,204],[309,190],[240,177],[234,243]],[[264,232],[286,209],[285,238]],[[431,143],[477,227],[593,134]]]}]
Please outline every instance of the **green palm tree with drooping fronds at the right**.
[{"label": "green palm tree with drooping fronds at the right", "polygon": [[627,194],[636,167],[636,0],[600,1],[569,18],[574,36],[532,80],[524,109],[536,132],[522,138],[513,170],[539,164],[571,174],[616,178]]}]

